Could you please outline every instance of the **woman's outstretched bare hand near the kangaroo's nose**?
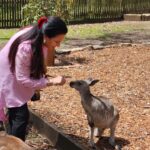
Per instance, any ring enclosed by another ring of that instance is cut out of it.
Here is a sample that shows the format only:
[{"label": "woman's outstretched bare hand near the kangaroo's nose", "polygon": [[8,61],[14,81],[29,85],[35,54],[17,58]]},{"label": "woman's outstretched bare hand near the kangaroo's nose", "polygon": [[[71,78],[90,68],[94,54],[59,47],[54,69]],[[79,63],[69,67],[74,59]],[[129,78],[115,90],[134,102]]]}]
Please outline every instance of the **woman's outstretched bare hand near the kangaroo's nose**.
[{"label": "woman's outstretched bare hand near the kangaroo's nose", "polygon": [[57,76],[55,78],[51,78],[48,79],[49,82],[47,84],[47,86],[51,86],[51,85],[63,85],[66,82],[66,79],[62,76]]}]

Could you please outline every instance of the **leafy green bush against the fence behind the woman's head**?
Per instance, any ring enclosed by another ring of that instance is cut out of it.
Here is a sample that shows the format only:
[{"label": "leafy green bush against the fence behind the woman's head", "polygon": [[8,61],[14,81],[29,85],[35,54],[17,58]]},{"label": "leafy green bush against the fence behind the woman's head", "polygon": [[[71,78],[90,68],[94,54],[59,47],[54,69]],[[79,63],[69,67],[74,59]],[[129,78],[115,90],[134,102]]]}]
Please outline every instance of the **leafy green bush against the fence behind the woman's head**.
[{"label": "leafy green bush against the fence behind the woman's head", "polygon": [[73,0],[29,0],[22,9],[24,14],[22,25],[35,23],[41,16],[60,16],[69,21],[72,3]]}]

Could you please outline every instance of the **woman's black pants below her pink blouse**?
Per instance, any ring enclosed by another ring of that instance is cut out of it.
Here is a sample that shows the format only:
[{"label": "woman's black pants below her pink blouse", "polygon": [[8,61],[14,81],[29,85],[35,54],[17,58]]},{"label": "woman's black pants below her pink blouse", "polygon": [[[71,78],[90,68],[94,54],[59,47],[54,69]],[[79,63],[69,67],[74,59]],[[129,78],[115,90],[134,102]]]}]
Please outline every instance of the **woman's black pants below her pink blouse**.
[{"label": "woman's black pants below her pink blouse", "polygon": [[21,107],[8,108],[9,129],[8,133],[25,141],[26,129],[29,121],[27,104]]}]

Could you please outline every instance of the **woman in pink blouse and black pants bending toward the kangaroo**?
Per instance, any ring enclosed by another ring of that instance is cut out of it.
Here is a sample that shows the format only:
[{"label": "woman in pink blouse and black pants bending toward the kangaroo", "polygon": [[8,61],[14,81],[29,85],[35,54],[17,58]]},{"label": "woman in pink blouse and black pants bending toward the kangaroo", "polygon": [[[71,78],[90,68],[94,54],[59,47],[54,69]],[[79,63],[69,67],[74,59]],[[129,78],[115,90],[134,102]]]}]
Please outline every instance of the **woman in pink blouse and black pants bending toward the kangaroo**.
[{"label": "woman in pink blouse and black pants bending toward the kangaroo", "polygon": [[47,50],[60,46],[67,33],[59,17],[41,17],[37,25],[16,33],[0,51],[0,121],[8,108],[9,134],[23,141],[29,119],[27,101],[35,90],[63,85],[65,79],[46,78]]}]

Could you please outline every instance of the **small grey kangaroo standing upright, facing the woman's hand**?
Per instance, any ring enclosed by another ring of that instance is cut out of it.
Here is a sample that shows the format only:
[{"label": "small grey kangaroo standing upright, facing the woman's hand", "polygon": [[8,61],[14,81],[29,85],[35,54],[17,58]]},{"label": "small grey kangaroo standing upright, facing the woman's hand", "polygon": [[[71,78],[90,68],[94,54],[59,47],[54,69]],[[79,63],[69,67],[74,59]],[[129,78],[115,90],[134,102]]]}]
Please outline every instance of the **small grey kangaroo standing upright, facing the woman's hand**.
[{"label": "small grey kangaroo standing upright, facing the woman's hand", "polygon": [[90,127],[89,144],[95,148],[94,129],[97,129],[97,136],[101,136],[103,131],[110,128],[109,143],[115,146],[115,129],[119,120],[119,111],[105,97],[96,97],[90,92],[90,87],[99,80],[91,78],[87,80],[76,80],[70,82],[70,87],[76,89],[81,96],[81,104],[87,115]]}]

